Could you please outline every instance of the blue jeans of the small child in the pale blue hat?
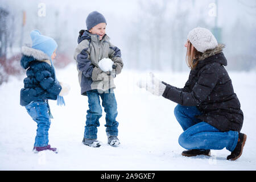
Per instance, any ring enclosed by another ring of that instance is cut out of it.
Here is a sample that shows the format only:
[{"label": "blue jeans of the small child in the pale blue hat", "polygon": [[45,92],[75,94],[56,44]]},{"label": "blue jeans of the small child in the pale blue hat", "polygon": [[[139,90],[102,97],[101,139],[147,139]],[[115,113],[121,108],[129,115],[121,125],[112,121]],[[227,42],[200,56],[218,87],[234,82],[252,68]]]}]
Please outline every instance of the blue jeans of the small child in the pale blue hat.
[{"label": "blue jeans of the small child in the pale blue hat", "polygon": [[27,113],[32,119],[38,123],[38,129],[36,130],[35,147],[43,147],[48,145],[48,130],[51,125],[51,119],[49,117],[49,108],[47,102],[36,101],[31,102],[26,106]]}]

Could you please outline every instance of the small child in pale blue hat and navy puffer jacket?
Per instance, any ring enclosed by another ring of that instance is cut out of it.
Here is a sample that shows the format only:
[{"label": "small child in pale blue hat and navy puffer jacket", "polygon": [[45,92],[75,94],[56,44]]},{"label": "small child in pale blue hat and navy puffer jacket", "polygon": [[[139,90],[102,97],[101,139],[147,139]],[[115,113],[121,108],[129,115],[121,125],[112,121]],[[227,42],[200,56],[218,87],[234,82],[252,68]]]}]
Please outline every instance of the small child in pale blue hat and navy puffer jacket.
[{"label": "small child in pale blue hat and navy puffer jacket", "polygon": [[69,86],[57,81],[53,59],[56,56],[57,43],[42,35],[38,30],[30,33],[32,47],[22,47],[20,65],[27,69],[24,88],[20,90],[20,105],[25,106],[28,114],[38,124],[34,143],[34,152],[57,148],[48,144],[48,130],[51,125],[51,111],[48,100],[57,100],[65,105],[63,96],[69,92]]}]

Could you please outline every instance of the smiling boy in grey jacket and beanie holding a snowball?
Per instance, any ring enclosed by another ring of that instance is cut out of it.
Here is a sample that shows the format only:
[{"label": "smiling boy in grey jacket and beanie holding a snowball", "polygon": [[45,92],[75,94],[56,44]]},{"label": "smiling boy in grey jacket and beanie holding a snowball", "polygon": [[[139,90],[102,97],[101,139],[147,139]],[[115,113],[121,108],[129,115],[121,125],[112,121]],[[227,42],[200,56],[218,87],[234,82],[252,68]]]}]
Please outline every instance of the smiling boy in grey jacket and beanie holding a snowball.
[{"label": "smiling boy in grey jacket and beanie holding a snowball", "polygon": [[79,72],[81,94],[88,96],[89,110],[82,143],[90,147],[100,147],[97,140],[97,127],[102,116],[102,106],[106,112],[106,133],[110,146],[118,146],[117,102],[113,89],[115,75],[121,73],[123,61],[121,51],[109,42],[105,34],[106,19],[97,11],[86,18],[87,30],[81,30],[74,59]]}]

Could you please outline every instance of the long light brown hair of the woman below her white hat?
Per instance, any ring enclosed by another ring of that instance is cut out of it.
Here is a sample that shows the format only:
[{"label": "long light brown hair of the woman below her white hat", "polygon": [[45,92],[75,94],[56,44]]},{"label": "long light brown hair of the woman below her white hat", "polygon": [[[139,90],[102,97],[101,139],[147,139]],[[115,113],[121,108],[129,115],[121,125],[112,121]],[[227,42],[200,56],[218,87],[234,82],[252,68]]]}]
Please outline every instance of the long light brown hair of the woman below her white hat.
[{"label": "long light brown hair of the woman below her white hat", "polygon": [[199,56],[201,56],[202,54],[203,53],[197,51],[197,49],[193,47],[191,42],[188,40],[186,63],[190,69],[196,68],[196,65],[198,64],[199,61]]}]

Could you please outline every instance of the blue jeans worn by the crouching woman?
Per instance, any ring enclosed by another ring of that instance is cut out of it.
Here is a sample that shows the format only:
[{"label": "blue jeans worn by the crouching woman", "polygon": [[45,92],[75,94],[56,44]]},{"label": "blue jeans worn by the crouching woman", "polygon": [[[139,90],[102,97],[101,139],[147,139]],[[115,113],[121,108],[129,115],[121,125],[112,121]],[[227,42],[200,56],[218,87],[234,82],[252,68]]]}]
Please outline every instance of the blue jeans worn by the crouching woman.
[{"label": "blue jeans worn by the crouching woman", "polygon": [[179,137],[181,147],[187,150],[221,150],[226,147],[231,152],[236,147],[238,132],[220,132],[216,127],[195,118],[195,115],[201,114],[197,107],[177,105],[174,114],[184,130]]}]

